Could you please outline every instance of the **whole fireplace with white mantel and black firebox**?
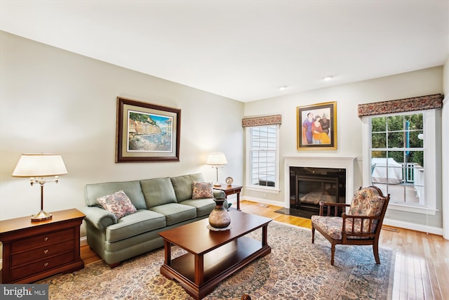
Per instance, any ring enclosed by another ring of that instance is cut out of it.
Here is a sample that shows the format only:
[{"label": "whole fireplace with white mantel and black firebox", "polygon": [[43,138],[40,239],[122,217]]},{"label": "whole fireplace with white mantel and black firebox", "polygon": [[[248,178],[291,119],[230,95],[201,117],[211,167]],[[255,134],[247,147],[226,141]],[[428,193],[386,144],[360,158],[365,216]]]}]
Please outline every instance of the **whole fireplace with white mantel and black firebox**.
[{"label": "whole fireplace with white mantel and black firebox", "polygon": [[[319,201],[351,203],[355,156],[309,154],[284,157],[286,209],[319,212]],[[302,214],[299,214],[302,216]]]}]

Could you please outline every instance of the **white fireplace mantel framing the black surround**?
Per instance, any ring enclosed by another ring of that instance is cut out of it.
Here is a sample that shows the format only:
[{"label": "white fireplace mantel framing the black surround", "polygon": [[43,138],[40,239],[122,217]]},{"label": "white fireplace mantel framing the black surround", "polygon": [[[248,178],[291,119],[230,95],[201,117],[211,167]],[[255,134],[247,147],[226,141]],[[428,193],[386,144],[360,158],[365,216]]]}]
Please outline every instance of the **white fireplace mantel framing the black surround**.
[{"label": "white fireplace mantel framing the black surround", "polygon": [[[290,167],[346,169],[346,203],[354,196],[354,155],[307,154],[283,157],[285,190],[290,190]],[[290,193],[285,193],[285,207],[290,208]]]}]

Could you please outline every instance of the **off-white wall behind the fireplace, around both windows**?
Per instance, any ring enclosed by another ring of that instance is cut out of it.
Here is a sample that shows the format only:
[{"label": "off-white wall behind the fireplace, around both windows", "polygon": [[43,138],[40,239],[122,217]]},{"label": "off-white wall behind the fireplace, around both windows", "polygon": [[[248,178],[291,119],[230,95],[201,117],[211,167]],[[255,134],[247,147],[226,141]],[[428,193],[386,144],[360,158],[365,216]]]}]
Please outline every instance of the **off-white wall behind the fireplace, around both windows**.
[{"label": "off-white wall behind the fireplace, around both windows", "polygon": [[[295,95],[269,98],[246,103],[245,116],[269,115],[281,113],[282,125],[280,129],[281,138],[281,170],[280,186],[284,186],[283,157],[295,156],[299,153],[334,153],[340,155],[362,154],[362,129],[361,120],[357,116],[357,105],[361,103],[373,103],[385,100],[410,98],[424,96],[434,93],[443,93],[443,67],[432,67],[416,72],[408,72],[389,77],[330,86],[327,89],[319,89]],[[335,80],[338,80],[335,78]],[[337,150],[297,150],[296,147],[296,107],[302,105],[312,105],[335,101],[337,103]],[[276,107],[276,111],[273,110]],[[441,132],[437,133],[441,135]],[[441,157],[438,160],[441,163]],[[354,186],[361,185],[362,162],[358,161]],[[441,176],[438,176],[441,178]],[[259,200],[279,205],[283,204],[284,191],[279,195],[264,194],[247,190],[245,195]],[[441,197],[441,193],[438,193]],[[437,216],[421,214],[403,214],[398,211],[388,211],[387,218],[396,219],[403,222],[417,222],[424,225],[442,228],[441,220],[441,199],[437,200],[437,207],[440,209]]]}]

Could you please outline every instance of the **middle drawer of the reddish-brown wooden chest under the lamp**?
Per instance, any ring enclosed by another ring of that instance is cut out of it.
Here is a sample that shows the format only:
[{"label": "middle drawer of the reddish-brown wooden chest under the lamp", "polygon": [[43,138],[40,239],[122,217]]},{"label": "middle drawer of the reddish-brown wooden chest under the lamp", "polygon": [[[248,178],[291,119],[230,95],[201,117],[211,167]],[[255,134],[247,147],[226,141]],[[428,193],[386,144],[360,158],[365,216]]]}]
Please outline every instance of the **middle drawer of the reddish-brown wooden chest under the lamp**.
[{"label": "middle drawer of the reddish-brown wooden chest under the lamp", "polygon": [[31,263],[33,261],[38,261],[39,259],[45,259],[46,257],[51,257],[72,251],[75,247],[74,243],[74,240],[67,240],[58,244],[51,244],[27,252],[13,254],[11,266],[20,266],[24,263]]}]

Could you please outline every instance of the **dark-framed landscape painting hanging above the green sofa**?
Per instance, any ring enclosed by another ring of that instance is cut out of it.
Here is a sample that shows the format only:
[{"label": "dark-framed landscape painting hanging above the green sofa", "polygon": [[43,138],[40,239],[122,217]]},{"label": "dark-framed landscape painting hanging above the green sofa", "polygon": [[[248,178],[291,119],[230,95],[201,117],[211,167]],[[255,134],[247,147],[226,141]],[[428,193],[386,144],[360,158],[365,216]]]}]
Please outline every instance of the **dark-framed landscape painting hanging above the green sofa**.
[{"label": "dark-framed landscape painting hanging above the green sofa", "polygon": [[181,110],[117,97],[116,162],[179,162]]}]

